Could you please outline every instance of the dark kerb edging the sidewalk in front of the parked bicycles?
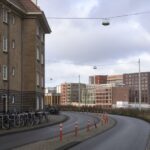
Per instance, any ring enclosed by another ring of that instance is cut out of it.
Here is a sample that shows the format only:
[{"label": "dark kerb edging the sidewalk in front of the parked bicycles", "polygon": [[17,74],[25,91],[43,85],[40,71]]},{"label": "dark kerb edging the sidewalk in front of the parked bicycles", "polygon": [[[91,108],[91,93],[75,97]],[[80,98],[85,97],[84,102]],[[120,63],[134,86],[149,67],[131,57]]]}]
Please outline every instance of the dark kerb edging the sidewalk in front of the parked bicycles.
[{"label": "dark kerb edging the sidewalk in front of the parked bicycles", "polygon": [[39,125],[39,126],[33,126],[33,127],[31,127],[31,128],[26,128],[26,129],[22,129],[22,130],[20,129],[20,130],[16,130],[16,131],[11,131],[11,130],[10,130],[10,132],[7,130],[8,132],[6,132],[6,133],[0,133],[0,137],[1,137],[1,136],[6,136],[6,135],[15,134],[15,133],[26,132],[26,131],[37,130],[37,129],[40,129],[40,128],[45,128],[45,127],[54,126],[54,125],[57,125],[57,124],[59,124],[59,123],[65,122],[65,121],[67,121],[67,120],[69,119],[69,117],[66,116],[66,115],[62,115],[62,116],[64,116],[64,118],[63,118],[62,120],[56,121],[56,122],[54,122],[54,123],[47,123],[47,124],[44,124],[44,125],[41,124],[41,125]]}]

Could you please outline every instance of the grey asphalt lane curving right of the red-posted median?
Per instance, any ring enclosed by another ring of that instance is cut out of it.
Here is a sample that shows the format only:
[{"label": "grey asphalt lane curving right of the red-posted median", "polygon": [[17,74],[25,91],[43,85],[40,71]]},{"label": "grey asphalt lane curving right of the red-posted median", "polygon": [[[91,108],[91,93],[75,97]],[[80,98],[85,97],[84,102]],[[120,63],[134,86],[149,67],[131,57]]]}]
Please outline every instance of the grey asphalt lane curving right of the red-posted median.
[{"label": "grey asphalt lane curving right of the red-posted median", "polygon": [[139,119],[112,116],[117,125],[71,150],[146,150],[150,124]]}]

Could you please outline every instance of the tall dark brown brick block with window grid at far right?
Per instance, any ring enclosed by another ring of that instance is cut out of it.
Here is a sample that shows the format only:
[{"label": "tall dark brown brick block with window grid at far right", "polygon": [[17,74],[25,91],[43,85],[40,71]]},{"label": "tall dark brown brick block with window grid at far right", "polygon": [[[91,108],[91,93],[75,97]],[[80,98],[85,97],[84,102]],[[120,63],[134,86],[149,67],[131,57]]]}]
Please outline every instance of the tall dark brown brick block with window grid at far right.
[{"label": "tall dark brown brick block with window grid at far right", "polygon": [[[150,104],[150,72],[141,72],[141,102]],[[123,75],[123,82],[130,88],[129,101],[139,102],[139,73]]]}]

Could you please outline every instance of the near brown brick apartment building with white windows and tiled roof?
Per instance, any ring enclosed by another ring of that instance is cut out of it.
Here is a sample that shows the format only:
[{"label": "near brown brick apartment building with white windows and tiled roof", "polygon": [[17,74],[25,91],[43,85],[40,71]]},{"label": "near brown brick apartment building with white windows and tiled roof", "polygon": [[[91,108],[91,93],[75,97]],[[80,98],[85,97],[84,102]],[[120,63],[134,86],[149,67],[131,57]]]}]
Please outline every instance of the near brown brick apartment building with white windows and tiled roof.
[{"label": "near brown brick apartment building with white windows and tiled roof", "polygon": [[42,109],[46,17],[31,0],[1,0],[0,16],[0,111]]}]

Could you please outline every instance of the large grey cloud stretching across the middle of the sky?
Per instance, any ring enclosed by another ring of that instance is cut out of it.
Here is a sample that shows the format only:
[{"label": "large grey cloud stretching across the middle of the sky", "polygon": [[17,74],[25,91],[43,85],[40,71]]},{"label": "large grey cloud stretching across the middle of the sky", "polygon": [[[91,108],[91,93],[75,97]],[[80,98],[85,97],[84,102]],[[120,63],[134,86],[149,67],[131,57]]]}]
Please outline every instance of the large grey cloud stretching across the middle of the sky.
[{"label": "large grey cloud stretching across the middle of the sky", "polygon": [[92,31],[74,32],[72,28],[70,33],[61,34],[56,41],[51,39],[48,42],[49,49],[55,50],[50,55],[58,60],[91,63],[136,55],[141,53],[141,50],[149,51],[150,41],[143,39],[144,35],[138,30],[131,27],[124,29],[124,26],[110,27],[105,31],[98,27]]}]

